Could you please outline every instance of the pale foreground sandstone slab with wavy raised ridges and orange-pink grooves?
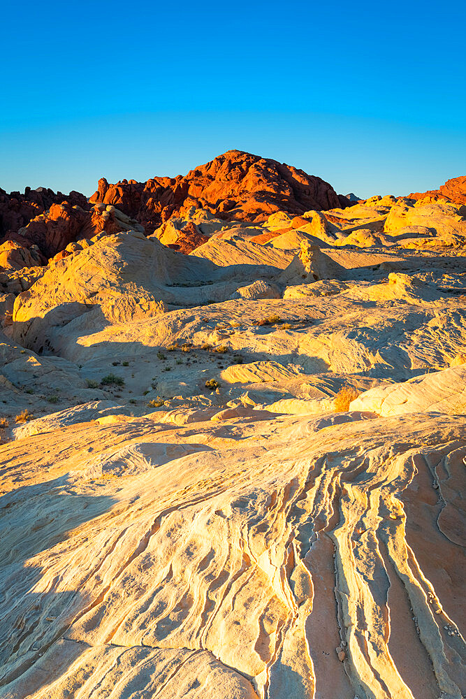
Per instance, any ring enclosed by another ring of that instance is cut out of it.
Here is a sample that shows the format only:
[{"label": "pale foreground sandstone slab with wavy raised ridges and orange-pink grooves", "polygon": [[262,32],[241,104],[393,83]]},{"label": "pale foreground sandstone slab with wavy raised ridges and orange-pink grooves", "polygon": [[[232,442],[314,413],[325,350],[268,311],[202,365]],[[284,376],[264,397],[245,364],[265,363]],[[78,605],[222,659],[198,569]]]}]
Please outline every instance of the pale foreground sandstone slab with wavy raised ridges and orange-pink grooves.
[{"label": "pale foreground sandstone slab with wavy raised ridges and orange-pink grooves", "polygon": [[459,698],[465,419],[363,417],[3,447],[1,696]]}]

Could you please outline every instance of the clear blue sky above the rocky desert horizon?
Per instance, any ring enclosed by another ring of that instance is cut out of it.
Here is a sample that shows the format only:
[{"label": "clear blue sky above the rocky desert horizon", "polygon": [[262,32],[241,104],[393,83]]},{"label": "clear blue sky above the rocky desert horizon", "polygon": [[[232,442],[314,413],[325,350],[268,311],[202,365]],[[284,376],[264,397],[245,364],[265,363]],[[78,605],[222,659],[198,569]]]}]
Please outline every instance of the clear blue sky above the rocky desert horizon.
[{"label": "clear blue sky above the rocky desert horizon", "polygon": [[89,195],[238,148],[338,192],[466,173],[466,3],[10,2],[0,187]]}]

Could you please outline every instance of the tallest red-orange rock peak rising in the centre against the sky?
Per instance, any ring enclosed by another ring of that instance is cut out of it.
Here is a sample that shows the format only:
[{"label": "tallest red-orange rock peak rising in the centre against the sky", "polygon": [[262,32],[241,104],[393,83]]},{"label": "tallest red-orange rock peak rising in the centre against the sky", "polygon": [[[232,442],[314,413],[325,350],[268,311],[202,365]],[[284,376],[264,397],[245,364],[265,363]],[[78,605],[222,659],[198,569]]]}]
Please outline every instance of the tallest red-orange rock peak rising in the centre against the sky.
[{"label": "tallest red-orange rock peak rising in the centre against the sky", "polygon": [[226,220],[261,222],[279,210],[303,214],[344,205],[321,178],[240,150],[229,150],[184,177],[122,180],[116,185],[102,178],[89,201],[117,206],[136,217],[147,234],[191,206]]}]

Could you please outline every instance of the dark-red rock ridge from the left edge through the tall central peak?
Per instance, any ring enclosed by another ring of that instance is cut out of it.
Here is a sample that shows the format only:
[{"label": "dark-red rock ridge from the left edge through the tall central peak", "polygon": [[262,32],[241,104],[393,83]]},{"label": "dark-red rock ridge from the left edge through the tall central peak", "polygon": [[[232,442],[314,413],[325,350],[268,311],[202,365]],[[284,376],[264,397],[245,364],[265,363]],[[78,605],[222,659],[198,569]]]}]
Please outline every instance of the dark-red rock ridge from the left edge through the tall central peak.
[{"label": "dark-red rock ridge from the left edge through the tall central peak", "polygon": [[65,196],[50,189],[27,188],[24,195],[8,195],[0,190],[0,239],[37,245],[52,257],[77,238],[92,238],[101,230],[114,232],[112,220],[105,220],[112,219],[108,212],[113,206],[150,235],[170,217],[191,209],[206,210],[225,221],[260,222],[279,210],[302,214],[349,204],[319,177],[231,150],[176,178],[122,180],[116,185],[102,178],[89,203],[78,192]]}]

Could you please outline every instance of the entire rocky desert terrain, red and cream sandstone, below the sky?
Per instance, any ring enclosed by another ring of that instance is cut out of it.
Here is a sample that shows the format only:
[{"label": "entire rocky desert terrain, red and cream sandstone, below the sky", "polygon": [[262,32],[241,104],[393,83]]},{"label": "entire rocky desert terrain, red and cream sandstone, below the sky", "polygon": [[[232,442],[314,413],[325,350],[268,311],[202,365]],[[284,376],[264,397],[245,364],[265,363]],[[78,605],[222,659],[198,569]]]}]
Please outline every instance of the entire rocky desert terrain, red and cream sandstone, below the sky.
[{"label": "entire rocky desert terrain, red and cream sandstone, below the sky", "polygon": [[462,699],[465,206],[238,151],[41,196],[0,245],[1,699]]}]

